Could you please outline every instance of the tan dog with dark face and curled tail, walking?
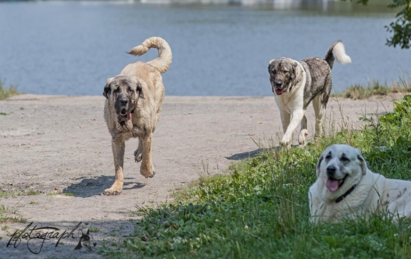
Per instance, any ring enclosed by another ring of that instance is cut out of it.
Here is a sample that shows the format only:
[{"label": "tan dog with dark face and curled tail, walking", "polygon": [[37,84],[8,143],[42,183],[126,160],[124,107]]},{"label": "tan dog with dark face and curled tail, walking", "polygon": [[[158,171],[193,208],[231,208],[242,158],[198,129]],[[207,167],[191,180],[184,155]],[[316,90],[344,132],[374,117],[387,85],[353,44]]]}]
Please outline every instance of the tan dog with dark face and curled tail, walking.
[{"label": "tan dog with dark face and curled tail, walking", "polygon": [[104,118],[112,135],[114,156],[114,184],[105,189],[105,195],[117,195],[123,191],[123,161],[125,141],[138,137],[134,159],[141,163],[140,173],[153,177],[155,169],[151,159],[151,139],[160,118],[164,85],[161,74],[169,70],[173,55],[169,44],[158,37],[151,37],[129,54],[140,56],[150,48],[158,49],[158,57],[151,62],[128,64],[121,73],[107,80],[103,96],[107,98]]}]

